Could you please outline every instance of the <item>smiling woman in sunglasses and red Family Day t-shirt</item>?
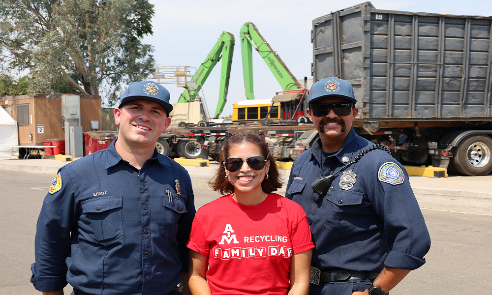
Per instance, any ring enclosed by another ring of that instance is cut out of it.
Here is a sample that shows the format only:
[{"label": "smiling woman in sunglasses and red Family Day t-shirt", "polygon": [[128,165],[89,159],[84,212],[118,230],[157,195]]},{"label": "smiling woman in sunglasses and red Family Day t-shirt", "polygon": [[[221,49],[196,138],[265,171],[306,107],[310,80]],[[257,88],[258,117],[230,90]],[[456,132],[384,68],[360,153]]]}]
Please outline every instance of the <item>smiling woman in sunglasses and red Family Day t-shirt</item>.
[{"label": "smiling woman in sunglasses and red Family Day t-shirt", "polygon": [[234,135],[210,185],[223,197],[201,207],[187,246],[193,295],[307,295],[312,248],[306,213],[273,193],[282,186],[268,144]]}]

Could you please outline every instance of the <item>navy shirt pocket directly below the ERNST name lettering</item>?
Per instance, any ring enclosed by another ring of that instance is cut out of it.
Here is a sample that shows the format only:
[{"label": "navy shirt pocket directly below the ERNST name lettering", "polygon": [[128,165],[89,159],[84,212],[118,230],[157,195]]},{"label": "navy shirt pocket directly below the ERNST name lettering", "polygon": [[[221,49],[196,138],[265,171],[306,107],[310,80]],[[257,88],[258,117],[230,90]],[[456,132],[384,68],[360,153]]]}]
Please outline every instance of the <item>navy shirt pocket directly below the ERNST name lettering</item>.
[{"label": "navy shirt pocket directly below the ERNST name lettering", "polygon": [[101,245],[123,236],[122,205],[122,196],[93,198],[82,202],[82,236]]}]

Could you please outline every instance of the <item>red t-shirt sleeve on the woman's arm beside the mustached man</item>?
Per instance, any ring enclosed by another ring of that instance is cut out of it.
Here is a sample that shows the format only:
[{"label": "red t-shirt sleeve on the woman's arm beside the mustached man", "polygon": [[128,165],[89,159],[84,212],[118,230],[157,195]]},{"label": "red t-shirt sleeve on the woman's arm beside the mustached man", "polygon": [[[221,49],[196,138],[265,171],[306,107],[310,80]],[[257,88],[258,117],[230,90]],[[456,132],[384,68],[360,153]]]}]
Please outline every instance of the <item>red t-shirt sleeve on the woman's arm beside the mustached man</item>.
[{"label": "red t-shirt sleeve on the woman's arm beside the mustached man", "polygon": [[292,232],[290,236],[292,241],[292,251],[294,254],[299,254],[314,248],[314,244],[312,242],[311,230],[307,223],[306,212],[304,212],[303,208],[297,203],[290,201],[289,203],[292,203],[289,205],[293,207],[289,210],[289,215],[293,216]]}]

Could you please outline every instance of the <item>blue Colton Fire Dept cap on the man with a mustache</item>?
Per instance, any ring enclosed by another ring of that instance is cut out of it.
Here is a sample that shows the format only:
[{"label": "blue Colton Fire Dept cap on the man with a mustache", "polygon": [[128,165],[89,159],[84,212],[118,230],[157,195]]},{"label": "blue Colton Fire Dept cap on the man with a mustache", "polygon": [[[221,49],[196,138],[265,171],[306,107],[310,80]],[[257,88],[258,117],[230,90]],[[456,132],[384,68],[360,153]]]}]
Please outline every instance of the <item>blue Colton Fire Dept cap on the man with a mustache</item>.
[{"label": "blue Colton Fire Dept cap on the man with a mustache", "polygon": [[316,83],[311,86],[311,89],[309,90],[308,105],[310,106],[320,98],[333,96],[346,99],[354,105],[357,103],[354,89],[349,82],[335,77],[328,77],[316,81]]}]

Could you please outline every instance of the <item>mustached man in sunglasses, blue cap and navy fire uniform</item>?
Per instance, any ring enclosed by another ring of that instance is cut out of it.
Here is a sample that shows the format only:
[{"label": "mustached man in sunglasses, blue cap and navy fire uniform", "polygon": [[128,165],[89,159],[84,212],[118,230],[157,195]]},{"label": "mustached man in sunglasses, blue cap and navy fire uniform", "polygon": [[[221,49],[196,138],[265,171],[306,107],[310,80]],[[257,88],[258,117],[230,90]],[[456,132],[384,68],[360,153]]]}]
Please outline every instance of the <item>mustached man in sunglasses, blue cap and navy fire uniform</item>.
[{"label": "mustached man in sunglasses, blue cap and navy fire uniform", "polygon": [[[340,170],[373,146],[352,128],[356,102],[347,81],[312,85],[306,111],[320,138],[296,159],[287,183],[286,197],[306,211],[315,245],[310,295],[387,294],[425,263],[431,246],[408,175],[387,151],[370,150]],[[316,193],[311,184],[330,175],[332,184]]]}]

